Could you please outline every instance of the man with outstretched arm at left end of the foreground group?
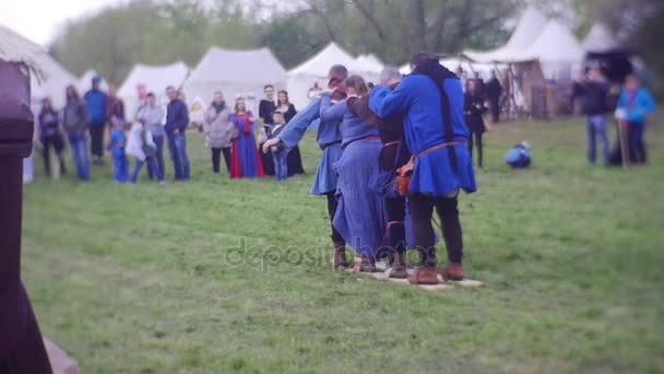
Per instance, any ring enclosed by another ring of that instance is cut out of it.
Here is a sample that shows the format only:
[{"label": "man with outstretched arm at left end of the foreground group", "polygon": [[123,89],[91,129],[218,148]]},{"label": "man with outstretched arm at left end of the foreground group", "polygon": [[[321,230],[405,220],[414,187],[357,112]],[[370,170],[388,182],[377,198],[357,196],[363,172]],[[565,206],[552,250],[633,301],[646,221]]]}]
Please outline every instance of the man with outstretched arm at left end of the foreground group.
[{"label": "man with outstretched arm at left end of the foreground group", "polygon": [[[342,83],[348,78],[348,70],[342,65],[335,65],[330,68],[328,74],[330,81],[328,86],[334,91],[333,100],[345,98],[345,93]],[[336,90],[335,90],[336,89]],[[277,138],[271,139],[263,144],[263,152],[269,152],[272,147],[283,143],[286,148],[292,149],[303,139],[305,131],[311,122],[320,117],[320,97],[313,97],[309,105],[300,110],[286,127],[282,130]],[[328,198],[328,214],[330,215],[330,225],[332,227],[332,243],[334,245],[334,258],[332,266],[334,268],[348,267],[346,259],[346,242],[343,236],[334,229],[332,221],[336,212],[337,201],[336,192],[336,172],[334,163],[341,159],[342,154],[342,136],[339,129],[341,120],[321,120],[318,127],[316,140],[318,145],[323,151],[323,154],[316,171],[316,178],[311,187],[311,194],[325,196]]]}]

